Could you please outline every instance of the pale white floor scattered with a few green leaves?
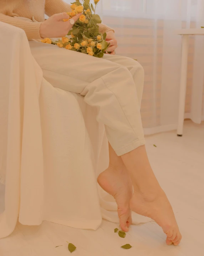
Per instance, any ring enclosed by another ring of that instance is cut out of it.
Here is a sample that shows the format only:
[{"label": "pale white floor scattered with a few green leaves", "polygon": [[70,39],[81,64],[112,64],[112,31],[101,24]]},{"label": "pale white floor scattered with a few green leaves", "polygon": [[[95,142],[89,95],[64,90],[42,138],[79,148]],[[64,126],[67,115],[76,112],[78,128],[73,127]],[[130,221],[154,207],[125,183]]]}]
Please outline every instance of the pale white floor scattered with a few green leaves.
[{"label": "pale white floor scattered with a few green leaves", "polygon": [[[76,256],[203,256],[204,123],[185,121],[183,137],[177,137],[176,131],[149,136],[147,149],[155,174],[174,208],[183,235],[180,246],[166,246],[165,235],[153,222],[132,226],[126,238],[115,234],[117,225],[107,221],[97,231],[50,222],[36,227],[18,223],[12,235],[0,240],[0,256],[66,256],[70,253],[66,241],[77,246],[73,252]],[[126,243],[133,248],[120,248]],[[63,246],[55,248],[58,245]]]}]

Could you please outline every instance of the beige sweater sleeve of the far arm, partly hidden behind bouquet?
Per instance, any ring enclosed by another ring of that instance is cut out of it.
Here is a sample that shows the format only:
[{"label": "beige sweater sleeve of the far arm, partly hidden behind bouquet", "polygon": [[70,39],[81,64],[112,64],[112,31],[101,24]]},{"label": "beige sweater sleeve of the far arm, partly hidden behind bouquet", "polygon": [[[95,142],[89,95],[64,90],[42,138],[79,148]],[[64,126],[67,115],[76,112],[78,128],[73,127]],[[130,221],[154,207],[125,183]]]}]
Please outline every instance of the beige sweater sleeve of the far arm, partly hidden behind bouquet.
[{"label": "beige sweater sleeve of the far arm, partly hidden behind bouquet", "polygon": [[[71,12],[72,9],[69,4],[65,3],[63,0],[45,0],[45,13],[48,16],[52,16],[53,14],[56,13],[63,13],[63,12]],[[100,33],[105,33],[108,32],[109,30],[113,30],[107,25],[104,24],[98,24],[99,25],[99,32]]]}]

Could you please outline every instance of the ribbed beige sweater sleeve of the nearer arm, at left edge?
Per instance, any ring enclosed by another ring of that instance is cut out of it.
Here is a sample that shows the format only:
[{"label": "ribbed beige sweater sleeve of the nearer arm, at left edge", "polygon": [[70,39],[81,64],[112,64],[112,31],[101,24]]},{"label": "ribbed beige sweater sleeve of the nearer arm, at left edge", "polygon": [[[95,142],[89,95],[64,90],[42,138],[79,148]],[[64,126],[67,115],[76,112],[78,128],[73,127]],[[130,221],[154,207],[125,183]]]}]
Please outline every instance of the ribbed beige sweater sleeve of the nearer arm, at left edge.
[{"label": "ribbed beige sweater sleeve of the nearer arm, at left edge", "polygon": [[14,17],[4,15],[2,13],[0,13],[0,21],[23,29],[28,39],[41,39],[39,32],[41,23],[39,22],[34,23],[25,20],[19,20]]}]

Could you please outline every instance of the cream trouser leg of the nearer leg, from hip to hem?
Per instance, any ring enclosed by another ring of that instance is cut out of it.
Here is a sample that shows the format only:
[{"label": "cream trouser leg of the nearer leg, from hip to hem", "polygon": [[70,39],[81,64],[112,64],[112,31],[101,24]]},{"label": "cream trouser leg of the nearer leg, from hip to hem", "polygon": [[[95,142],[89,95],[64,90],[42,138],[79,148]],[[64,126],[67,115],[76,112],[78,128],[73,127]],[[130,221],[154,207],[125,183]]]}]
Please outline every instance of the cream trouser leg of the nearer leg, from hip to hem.
[{"label": "cream trouser leg of the nearer leg, from hip to hem", "polygon": [[97,109],[117,155],[144,145],[137,89],[128,68],[55,45],[30,42],[31,52],[54,87],[80,93]]}]

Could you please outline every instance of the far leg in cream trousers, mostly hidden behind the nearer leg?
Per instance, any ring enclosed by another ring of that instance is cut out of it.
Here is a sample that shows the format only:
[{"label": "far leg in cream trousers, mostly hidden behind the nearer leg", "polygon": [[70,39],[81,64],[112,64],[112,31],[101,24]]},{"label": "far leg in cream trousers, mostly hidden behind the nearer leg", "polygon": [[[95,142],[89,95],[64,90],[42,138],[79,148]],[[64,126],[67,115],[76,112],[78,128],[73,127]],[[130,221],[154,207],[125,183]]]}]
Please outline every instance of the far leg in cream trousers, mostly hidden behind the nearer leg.
[{"label": "far leg in cream trousers, mostly hidden behind the nearer leg", "polygon": [[[142,66],[133,59],[123,56],[105,55],[105,57],[105,59],[111,62],[128,68],[136,86],[139,105],[141,105],[144,83],[144,70]],[[117,156],[110,144],[109,167],[99,175],[98,183],[106,192],[116,199],[120,226],[123,231],[127,232],[128,227],[132,223],[129,201],[132,198],[133,185],[122,159]]]}]

